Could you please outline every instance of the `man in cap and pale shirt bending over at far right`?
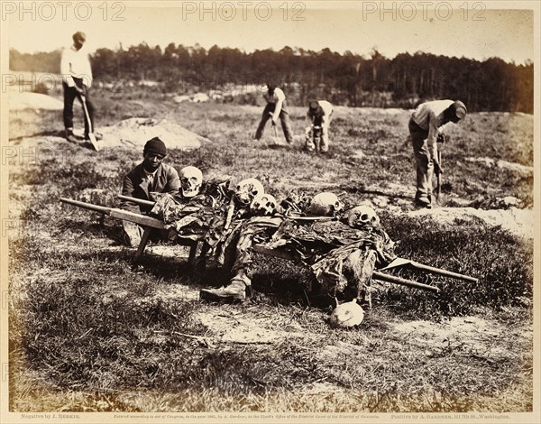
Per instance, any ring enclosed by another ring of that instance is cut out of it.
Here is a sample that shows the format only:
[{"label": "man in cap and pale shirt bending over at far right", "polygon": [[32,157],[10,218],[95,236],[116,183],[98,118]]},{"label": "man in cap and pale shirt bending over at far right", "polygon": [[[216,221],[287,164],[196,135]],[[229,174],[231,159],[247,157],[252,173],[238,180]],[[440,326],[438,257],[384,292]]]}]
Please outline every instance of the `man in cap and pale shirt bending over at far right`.
[{"label": "man in cap and pale shirt bending over at far right", "polygon": [[413,143],[417,171],[418,206],[432,207],[432,175],[443,173],[437,159],[437,139],[445,137],[444,125],[458,123],[467,114],[460,100],[435,100],[417,106],[409,119],[409,134]]}]

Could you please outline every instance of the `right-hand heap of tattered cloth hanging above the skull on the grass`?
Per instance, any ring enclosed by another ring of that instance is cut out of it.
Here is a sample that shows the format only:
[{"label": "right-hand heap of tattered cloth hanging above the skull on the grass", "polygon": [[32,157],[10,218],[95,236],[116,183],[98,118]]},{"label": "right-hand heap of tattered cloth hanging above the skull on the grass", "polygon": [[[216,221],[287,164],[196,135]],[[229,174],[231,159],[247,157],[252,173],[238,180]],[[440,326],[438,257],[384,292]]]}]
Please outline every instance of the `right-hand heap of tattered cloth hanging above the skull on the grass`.
[{"label": "right-hand heap of tattered cloth hanging above the skull on the grass", "polygon": [[348,284],[355,296],[366,295],[374,269],[396,258],[394,242],[383,229],[355,229],[337,220],[298,225],[287,219],[266,245],[279,246],[296,253],[333,295],[344,292]]}]

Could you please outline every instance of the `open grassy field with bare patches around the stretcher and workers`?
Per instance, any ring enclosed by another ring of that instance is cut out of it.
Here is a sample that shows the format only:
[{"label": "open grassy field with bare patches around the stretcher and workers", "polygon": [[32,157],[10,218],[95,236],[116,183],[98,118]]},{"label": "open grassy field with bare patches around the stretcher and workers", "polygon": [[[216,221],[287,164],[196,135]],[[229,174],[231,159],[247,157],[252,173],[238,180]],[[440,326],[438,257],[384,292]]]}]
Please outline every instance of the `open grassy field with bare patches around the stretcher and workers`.
[{"label": "open grassy field with bare patches around the stretcher and workers", "polygon": [[350,206],[370,201],[400,256],[479,284],[401,273],[442,294],[374,283],[362,325],[334,329],[304,290],[306,270],[258,255],[250,300],[200,302],[216,281],[190,272],[183,247],[171,256],[152,245],[133,271],[118,221],[58,201],[117,205],[142,152],[96,153],[59,137],[59,111],[12,111],[11,410],[532,411],[532,115],[471,114],[450,128],[442,205],[419,211],[408,111],[338,107],[323,157],[300,150],[302,107],[291,107],[298,149],[277,150],[271,129],[252,140],[259,107],[94,98],[98,129],[142,116],[208,138],[170,152],[178,170],[255,177],[277,198],[330,190]]}]

